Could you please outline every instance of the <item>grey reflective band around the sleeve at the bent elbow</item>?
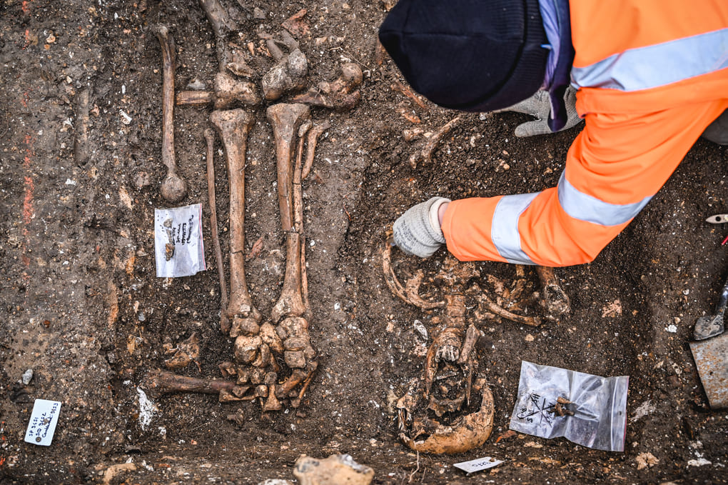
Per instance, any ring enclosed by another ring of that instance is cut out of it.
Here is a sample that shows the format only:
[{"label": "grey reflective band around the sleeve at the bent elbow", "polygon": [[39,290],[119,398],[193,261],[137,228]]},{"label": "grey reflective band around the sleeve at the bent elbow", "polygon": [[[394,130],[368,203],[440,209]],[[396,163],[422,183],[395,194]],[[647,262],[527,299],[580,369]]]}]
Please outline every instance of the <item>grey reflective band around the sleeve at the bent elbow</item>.
[{"label": "grey reflective band around the sleeve at the bent elbow", "polygon": [[652,196],[633,204],[610,204],[591,195],[579,192],[566,180],[566,172],[558,181],[558,202],[570,217],[601,226],[616,226],[630,221],[647,205]]}]

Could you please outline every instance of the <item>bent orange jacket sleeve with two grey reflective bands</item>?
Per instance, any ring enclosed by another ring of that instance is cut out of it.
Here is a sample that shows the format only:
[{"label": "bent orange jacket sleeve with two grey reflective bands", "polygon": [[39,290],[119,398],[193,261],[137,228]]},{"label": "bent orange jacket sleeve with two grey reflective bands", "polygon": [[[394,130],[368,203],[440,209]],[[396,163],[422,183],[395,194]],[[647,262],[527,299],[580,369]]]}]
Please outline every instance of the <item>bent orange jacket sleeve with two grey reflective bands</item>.
[{"label": "bent orange jacket sleeve with two grey reflective bands", "polygon": [[725,100],[649,114],[587,114],[558,188],[455,200],[442,230],[461,261],[592,261],[670,177]]}]

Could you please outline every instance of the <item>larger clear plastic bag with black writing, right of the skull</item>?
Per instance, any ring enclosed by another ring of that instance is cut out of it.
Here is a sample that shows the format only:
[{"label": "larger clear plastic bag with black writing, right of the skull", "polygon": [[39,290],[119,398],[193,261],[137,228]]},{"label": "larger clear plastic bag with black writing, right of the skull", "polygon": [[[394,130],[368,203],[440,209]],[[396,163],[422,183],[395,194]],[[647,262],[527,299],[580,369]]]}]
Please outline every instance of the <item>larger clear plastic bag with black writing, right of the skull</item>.
[{"label": "larger clear plastic bag with black writing, right of the skull", "polygon": [[523,360],[510,429],[623,452],[628,385],[628,376],[600,377]]}]

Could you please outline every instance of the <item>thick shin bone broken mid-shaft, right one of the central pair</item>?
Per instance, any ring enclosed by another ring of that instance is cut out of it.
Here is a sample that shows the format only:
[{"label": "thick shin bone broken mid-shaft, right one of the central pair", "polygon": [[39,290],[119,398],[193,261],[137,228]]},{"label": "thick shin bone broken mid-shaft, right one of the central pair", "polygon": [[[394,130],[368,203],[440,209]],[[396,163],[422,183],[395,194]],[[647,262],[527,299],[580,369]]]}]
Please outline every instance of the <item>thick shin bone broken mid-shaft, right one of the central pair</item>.
[{"label": "thick shin bone broken mid-shaft, right one of the central pair", "polygon": [[293,159],[294,138],[301,125],[309,119],[309,107],[303,104],[280,103],[270,106],[266,111],[273,125],[276,146],[276,165],[278,175],[278,205],[280,224],[286,233],[285,275],[280,298],[271,312],[273,323],[283,317],[299,317],[305,311],[301,296],[301,234],[296,232],[293,213]]}]

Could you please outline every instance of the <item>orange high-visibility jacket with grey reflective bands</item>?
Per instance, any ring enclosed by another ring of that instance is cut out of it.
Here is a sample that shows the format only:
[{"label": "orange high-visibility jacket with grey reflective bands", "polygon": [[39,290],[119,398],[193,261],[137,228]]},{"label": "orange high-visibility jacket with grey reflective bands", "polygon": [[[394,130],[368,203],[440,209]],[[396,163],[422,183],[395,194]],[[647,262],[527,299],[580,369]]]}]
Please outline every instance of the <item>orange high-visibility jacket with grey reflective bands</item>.
[{"label": "orange high-visibility jacket with grey reflective bands", "polygon": [[728,0],[571,0],[571,84],[585,118],[558,186],[455,200],[461,261],[592,261],[728,109]]}]

